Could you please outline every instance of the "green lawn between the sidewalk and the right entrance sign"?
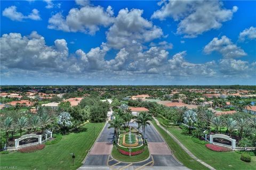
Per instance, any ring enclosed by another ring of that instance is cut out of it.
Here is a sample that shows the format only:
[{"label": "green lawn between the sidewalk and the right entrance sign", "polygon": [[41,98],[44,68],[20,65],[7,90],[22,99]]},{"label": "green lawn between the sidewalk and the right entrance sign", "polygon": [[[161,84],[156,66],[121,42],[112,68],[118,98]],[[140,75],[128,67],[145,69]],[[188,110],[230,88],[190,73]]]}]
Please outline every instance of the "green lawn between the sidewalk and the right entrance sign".
[{"label": "green lawn between the sidewalk and the right entrance sign", "polygon": [[207,149],[205,145],[195,143],[191,136],[182,133],[178,127],[167,128],[180,142],[183,143],[197,158],[216,169],[255,169],[256,157],[252,157],[251,163],[240,160],[241,154],[236,152],[215,152]]}]

